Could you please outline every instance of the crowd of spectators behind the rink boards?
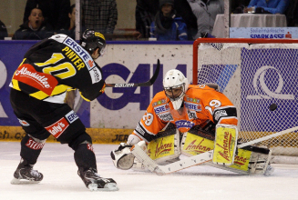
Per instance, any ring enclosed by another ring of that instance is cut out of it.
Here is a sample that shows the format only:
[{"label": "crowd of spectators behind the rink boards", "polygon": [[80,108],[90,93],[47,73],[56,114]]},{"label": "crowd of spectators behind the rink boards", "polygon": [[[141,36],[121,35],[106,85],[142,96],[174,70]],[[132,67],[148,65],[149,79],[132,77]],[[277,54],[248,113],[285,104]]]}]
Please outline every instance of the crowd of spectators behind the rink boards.
[{"label": "crowd of spectators behind the rink boards", "polygon": [[[80,30],[95,29],[107,40],[195,40],[211,35],[216,15],[224,13],[223,0],[136,0],[135,25],[118,32],[116,0],[81,0]],[[231,14],[286,15],[287,26],[298,26],[298,0],[231,0]],[[41,40],[66,34],[75,39],[76,5],[70,0],[27,0],[23,24],[8,35],[0,19],[0,39]]]}]

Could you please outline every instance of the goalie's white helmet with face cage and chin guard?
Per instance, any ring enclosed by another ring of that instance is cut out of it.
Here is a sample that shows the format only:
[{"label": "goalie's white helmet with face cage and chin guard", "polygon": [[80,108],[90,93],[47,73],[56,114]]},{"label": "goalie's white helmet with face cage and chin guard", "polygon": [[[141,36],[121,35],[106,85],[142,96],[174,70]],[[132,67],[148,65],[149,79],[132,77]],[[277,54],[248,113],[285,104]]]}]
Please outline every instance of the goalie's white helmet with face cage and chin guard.
[{"label": "goalie's white helmet with face cage and chin guard", "polygon": [[188,79],[177,69],[171,69],[163,79],[163,89],[175,110],[183,103],[183,97],[189,88]]}]

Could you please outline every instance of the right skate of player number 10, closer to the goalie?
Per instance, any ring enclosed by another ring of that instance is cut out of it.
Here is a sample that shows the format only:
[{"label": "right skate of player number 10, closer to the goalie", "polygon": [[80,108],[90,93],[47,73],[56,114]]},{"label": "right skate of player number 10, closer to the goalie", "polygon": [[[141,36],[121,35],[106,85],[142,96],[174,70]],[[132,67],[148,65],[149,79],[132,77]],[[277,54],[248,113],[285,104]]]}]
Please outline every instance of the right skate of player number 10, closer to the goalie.
[{"label": "right skate of player number 10, closer to the goalie", "polygon": [[87,188],[91,191],[117,191],[117,183],[112,178],[100,177],[95,169],[87,169],[83,171],[78,169],[77,175],[79,175]]}]

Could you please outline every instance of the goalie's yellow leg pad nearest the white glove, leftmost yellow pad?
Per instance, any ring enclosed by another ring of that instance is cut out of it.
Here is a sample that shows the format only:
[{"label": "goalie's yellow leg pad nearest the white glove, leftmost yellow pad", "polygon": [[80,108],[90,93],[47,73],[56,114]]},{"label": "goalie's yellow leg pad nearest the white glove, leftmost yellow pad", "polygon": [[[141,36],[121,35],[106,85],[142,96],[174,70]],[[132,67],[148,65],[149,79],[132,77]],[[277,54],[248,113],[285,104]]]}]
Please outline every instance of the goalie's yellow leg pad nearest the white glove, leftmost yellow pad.
[{"label": "goalie's yellow leg pad nearest the white glove, leftmost yellow pad", "polygon": [[180,132],[176,128],[159,132],[156,139],[147,145],[147,154],[159,165],[166,165],[180,156]]}]

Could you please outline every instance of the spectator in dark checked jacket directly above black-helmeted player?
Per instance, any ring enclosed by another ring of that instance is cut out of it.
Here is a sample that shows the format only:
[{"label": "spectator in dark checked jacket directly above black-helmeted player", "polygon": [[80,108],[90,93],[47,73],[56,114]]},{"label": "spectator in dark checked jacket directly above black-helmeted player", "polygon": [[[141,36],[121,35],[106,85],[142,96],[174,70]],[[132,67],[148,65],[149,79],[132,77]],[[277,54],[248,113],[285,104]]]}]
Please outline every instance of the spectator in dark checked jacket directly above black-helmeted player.
[{"label": "spectator in dark checked jacket directly above black-helmeted player", "polygon": [[81,0],[83,26],[101,34],[113,34],[118,20],[116,0]]}]

